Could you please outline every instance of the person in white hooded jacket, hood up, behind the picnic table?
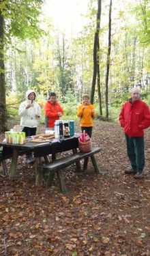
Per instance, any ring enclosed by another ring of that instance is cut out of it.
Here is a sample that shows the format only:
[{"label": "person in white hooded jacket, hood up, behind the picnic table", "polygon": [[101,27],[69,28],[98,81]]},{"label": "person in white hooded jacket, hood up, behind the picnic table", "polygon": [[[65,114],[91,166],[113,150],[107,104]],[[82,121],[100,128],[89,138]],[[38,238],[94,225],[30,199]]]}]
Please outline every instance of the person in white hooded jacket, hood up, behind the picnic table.
[{"label": "person in white hooded jacket, hood up, behind the picnic table", "polygon": [[[30,137],[36,134],[37,124],[41,117],[40,105],[35,102],[35,91],[29,89],[26,92],[26,100],[23,101],[18,110],[20,119],[20,130],[25,132],[26,137]],[[33,162],[34,158],[31,153],[26,155],[25,162]]]}]

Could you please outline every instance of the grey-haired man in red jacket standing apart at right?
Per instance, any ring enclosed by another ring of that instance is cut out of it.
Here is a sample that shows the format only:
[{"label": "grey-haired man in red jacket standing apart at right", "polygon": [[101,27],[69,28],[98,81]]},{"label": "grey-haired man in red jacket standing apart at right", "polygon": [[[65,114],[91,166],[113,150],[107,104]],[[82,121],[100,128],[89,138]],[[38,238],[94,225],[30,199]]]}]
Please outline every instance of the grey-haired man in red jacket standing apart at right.
[{"label": "grey-haired man in red jacket standing apart at right", "polygon": [[140,100],[138,88],[132,88],[131,98],[121,109],[119,122],[124,128],[127,145],[127,156],[130,159],[131,170],[126,170],[126,174],[135,174],[135,179],[142,178],[142,170],[145,166],[145,145],[144,129],[150,126],[149,106]]}]

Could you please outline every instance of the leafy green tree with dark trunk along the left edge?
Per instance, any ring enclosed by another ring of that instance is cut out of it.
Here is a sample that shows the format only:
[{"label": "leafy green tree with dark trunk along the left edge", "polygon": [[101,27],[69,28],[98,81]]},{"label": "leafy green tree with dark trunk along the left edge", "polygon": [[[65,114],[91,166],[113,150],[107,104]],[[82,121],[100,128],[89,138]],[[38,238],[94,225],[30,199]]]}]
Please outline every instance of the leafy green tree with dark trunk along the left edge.
[{"label": "leafy green tree with dark trunk along the left edge", "polygon": [[0,2],[0,130],[6,129],[5,53],[12,37],[39,38],[39,19],[44,0],[2,0]]}]

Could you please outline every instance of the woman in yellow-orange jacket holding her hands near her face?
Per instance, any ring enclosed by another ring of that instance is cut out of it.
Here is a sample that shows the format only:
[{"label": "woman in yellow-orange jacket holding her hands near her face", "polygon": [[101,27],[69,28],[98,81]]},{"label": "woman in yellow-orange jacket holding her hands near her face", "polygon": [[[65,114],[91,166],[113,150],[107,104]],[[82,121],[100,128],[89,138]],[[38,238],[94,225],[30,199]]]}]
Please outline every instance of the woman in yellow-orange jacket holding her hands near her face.
[{"label": "woman in yellow-orange jacket holding her hands near her face", "polygon": [[95,118],[96,114],[93,105],[89,102],[89,96],[85,94],[82,99],[83,103],[78,106],[77,116],[80,117],[80,127],[82,132],[85,130],[91,138],[93,118]]}]

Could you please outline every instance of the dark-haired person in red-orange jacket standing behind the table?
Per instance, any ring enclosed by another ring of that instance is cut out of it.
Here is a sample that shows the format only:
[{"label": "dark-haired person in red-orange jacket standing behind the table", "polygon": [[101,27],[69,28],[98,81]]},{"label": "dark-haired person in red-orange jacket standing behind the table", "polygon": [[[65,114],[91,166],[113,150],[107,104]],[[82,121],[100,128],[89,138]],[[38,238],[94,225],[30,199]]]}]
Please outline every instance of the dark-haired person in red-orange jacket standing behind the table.
[{"label": "dark-haired person in red-orange jacket standing behind the table", "polygon": [[55,129],[55,121],[59,120],[59,117],[63,115],[63,109],[57,101],[55,92],[50,92],[49,99],[44,106],[45,117],[46,117],[46,128],[48,130]]}]

